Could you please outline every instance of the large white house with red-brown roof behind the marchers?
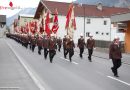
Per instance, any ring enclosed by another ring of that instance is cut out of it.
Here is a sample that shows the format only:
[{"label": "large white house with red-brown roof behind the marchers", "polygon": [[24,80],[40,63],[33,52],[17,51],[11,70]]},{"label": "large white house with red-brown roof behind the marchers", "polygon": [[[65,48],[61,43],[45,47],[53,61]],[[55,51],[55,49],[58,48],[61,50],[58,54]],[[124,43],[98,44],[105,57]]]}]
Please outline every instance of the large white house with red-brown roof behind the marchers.
[{"label": "large white house with red-brown roof behind the marchers", "polygon": [[[42,12],[50,10],[54,15],[54,11],[58,10],[59,30],[57,36],[64,37],[66,34],[65,23],[66,15],[70,3],[52,2],[41,0],[34,18],[42,17]],[[110,16],[117,13],[129,12],[127,8],[105,7],[102,4],[98,5],[78,5],[74,4],[74,12],[76,17],[77,30],[74,32],[74,42],[77,43],[80,34],[83,33],[85,39],[89,34],[93,34],[97,46],[107,47],[108,43],[119,36],[121,41],[124,41],[124,33],[118,32],[118,24],[112,24]]]}]

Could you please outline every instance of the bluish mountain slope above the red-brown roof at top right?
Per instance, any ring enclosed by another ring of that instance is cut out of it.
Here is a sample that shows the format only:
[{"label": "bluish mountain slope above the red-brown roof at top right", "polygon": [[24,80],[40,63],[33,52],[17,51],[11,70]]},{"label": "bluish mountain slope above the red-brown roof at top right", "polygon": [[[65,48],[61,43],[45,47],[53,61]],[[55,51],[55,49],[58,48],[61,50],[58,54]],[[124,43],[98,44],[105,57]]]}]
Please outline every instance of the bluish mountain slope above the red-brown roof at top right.
[{"label": "bluish mountain slope above the red-brown roof at top right", "polygon": [[75,3],[82,3],[82,4],[90,4],[96,5],[98,3],[102,3],[103,6],[110,6],[110,7],[129,7],[130,0],[77,0]]}]

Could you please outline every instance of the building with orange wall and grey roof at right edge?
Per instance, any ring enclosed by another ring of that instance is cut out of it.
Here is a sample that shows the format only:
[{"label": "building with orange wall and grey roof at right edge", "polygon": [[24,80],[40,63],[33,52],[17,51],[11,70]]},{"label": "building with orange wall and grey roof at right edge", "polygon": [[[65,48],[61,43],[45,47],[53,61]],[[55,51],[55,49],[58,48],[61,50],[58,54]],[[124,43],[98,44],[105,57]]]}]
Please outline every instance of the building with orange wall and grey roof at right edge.
[{"label": "building with orange wall and grey roof at right edge", "polygon": [[119,24],[119,30],[125,33],[125,52],[130,53],[130,12],[112,15],[111,22]]}]

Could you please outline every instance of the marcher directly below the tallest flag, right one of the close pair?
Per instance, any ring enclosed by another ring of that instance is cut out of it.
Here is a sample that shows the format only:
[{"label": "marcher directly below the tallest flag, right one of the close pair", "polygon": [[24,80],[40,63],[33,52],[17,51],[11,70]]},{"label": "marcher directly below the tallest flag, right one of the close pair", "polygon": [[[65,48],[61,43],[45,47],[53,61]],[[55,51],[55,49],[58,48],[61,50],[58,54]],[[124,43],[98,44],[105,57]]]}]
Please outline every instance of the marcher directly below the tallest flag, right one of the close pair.
[{"label": "marcher directly below the tallest flag, right one of the close pair", "polygon": [[66,41],[66,50],[67,51],[65,53],[65,57],[69,53],[70,62],[72,61],[72,56],[74,55],[74,48],[75,48],[74,41],[72,40],[72,38],[67,36],[67,41]]}]

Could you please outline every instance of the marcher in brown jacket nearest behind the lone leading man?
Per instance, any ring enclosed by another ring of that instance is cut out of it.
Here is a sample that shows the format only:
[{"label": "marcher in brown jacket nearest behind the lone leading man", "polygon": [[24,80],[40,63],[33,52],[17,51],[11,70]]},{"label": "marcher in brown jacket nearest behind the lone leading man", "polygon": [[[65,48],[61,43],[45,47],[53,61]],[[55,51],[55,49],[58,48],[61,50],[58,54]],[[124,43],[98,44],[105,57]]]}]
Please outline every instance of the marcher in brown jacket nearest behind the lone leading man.
[{"label": "marcher in brown jacket nearest behind the lone leading man", "polygon": [[95,40],[92,38],[92,34],[89,35],[89,39],[87,40],[86,47],[88,49],[88,60],[92,62],[92,54],[93,54],[93,49],[95,49]]}]

